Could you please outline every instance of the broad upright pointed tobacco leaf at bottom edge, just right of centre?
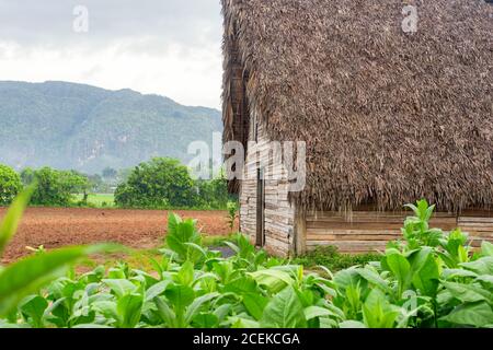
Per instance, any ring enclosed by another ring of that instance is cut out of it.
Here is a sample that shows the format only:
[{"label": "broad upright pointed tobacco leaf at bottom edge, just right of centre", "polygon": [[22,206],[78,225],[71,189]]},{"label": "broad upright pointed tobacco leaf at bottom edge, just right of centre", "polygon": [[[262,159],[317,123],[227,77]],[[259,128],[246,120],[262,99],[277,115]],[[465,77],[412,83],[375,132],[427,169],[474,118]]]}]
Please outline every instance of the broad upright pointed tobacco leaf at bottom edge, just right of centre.
[{"label": "broad upright pointed tobacco leaf at bottom edge, just right of centre", "polygon": [[263,328],[302,328],[307,326],[303,306],[293,287],[276,294],[264,310]]}]

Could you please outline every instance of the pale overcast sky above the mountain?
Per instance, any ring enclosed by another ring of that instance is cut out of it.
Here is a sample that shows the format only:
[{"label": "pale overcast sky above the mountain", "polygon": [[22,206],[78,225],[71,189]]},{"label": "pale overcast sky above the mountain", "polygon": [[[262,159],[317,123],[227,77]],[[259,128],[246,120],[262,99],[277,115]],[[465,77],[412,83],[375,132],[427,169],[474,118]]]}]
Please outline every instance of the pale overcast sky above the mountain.
[{"label": "pale overcast sky above the mountain", "polygon": [[0,80],[128,88],[219,108],[221,25],[219,0],[0,0]]}]

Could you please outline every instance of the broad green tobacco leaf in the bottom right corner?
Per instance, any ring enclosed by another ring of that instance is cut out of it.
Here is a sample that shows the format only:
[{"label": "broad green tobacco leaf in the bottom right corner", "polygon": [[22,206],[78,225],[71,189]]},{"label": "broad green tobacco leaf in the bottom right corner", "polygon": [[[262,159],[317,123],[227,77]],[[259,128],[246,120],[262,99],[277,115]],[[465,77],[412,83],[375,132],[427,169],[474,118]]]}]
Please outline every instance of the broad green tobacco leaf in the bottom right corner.
[{"label": "broad green tobacco leaf in the bottom right corner", "polygon": [[485,327],[493,323],[493,311],[486,302],[462,304],[440,319],[456,325]]}]

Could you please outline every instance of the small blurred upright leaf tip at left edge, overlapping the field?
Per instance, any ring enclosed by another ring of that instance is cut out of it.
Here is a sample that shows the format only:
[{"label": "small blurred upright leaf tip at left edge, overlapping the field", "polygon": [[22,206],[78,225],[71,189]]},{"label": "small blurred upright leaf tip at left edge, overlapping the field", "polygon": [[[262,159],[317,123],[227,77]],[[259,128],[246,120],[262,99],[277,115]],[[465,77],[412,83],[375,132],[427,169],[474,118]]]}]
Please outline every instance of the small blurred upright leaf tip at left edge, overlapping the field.
[{"label": "small blurred upright leaf tip at left edge, overlapping the field", "polygon": [[35,187],[34,185],[32,185],[27,189],[22,191],[14,199],[2,222],[0,223],[0,257],[2,256],[7,244],[18,231],[19,222],[21,221],[24,209],[27,206],[34,189]]}]

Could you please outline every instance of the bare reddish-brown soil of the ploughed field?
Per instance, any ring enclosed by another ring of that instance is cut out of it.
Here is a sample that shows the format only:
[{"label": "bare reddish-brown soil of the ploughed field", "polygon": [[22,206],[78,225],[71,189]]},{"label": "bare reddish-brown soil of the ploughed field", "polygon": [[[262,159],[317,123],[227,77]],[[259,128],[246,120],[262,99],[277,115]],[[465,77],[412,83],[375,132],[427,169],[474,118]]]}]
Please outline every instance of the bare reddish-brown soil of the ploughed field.
[{"label": "bare reddish-brown soil of the ploughed field", "polygon": [[[198,220],[203,233],[223,235],[229,228],[223,211],[175,211]],[[0,218],[5,209],[0,208]],[[157,247],[167,231],[168,211],[113,209],[26,210],[18,234],[9,244],[2,262],[31,254],[26,246],[55,248],[65,245],[115,242],[134,248]]]}]

